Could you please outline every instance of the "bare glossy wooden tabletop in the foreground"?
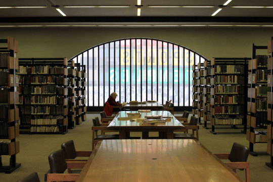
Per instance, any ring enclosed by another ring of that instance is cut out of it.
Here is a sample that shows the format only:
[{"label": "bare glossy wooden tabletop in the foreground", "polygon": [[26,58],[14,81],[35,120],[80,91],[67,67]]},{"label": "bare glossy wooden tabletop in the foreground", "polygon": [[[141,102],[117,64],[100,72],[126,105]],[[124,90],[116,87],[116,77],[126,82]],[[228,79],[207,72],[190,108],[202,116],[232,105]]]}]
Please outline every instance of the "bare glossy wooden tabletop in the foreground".
[{"label": "bare glossy wooden tabletop in the foreground", "polygon": [[243,181],[196,140],[103,140],[76,182]]}]

